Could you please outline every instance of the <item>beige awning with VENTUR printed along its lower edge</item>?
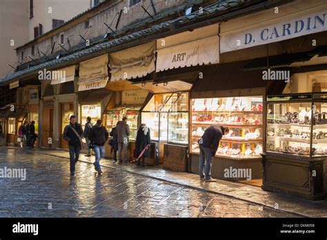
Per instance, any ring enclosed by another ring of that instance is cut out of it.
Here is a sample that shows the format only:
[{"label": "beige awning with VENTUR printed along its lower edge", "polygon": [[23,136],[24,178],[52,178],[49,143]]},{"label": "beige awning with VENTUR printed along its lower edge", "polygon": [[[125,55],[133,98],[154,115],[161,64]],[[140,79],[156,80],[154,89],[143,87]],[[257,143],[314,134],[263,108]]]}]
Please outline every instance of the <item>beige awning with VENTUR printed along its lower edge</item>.
[{"label": "beige awning with VENTUR printed along its lower edge", "polygon": [[79,92],[105,88],[108,83],[108,54],[79,63]]}]

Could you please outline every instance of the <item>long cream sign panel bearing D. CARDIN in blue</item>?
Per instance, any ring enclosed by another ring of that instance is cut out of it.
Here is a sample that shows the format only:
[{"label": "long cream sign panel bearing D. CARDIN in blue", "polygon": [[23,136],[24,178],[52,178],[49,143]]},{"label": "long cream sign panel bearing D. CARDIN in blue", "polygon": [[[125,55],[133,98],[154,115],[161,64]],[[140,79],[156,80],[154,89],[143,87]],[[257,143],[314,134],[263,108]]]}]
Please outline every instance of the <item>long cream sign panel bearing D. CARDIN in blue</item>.
[{"label": "long cream sign panel bearing D. CARDIN in blue", "polygon": [[[221,34],[220,52],[230,52],[327,30],[327,9],[292,14],[257,28]],[[227,24],[227,23],[226,23]]]}]

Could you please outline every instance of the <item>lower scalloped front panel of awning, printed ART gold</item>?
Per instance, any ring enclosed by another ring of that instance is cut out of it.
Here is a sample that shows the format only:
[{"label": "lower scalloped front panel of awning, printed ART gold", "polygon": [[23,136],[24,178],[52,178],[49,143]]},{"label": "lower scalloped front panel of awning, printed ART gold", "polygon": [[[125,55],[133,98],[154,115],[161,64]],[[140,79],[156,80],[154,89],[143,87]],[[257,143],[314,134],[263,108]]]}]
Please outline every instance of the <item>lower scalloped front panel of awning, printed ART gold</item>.
[{"label": "lower scalloped front panel of awning, printed ART gold", "polygon": [[157,50],[156,72],[219,63],[219,37],[213,36]]}]

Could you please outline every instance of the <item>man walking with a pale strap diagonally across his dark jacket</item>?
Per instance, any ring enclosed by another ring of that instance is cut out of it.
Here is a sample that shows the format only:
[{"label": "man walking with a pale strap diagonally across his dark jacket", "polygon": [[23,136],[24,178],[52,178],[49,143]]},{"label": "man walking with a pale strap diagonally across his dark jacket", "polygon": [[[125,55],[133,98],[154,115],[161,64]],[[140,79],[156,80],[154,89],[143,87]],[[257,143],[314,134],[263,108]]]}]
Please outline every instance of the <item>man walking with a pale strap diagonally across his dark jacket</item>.
[{"label": "man walking with a pale strap diagonally across his dark jacket", "polygon": [[63,130],[63,139],[68,141],[70,157],[70,175],[75,174],[75,164],[79,160],[81,151],[81,137],[83,137],[83,128],[76,122],[74,115],[70,116],[70,123]]}]

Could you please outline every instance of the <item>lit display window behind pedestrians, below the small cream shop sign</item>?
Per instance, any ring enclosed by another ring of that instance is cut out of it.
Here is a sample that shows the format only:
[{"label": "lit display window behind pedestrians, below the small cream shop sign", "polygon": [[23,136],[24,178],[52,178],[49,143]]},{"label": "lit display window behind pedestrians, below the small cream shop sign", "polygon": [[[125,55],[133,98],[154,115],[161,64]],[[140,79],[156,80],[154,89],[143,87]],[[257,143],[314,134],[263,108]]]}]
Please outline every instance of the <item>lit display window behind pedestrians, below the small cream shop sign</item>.
[{"label": "lit display window behind pedestrians, below the small cream shop sign", "polygon": [[117,126],[117,122],[127,117],[127,124],[130,126],[130,140],[135,140],[137,132],[137,117],[140,107],[116,107],[106,112],[106,129],[111,132]]}]

